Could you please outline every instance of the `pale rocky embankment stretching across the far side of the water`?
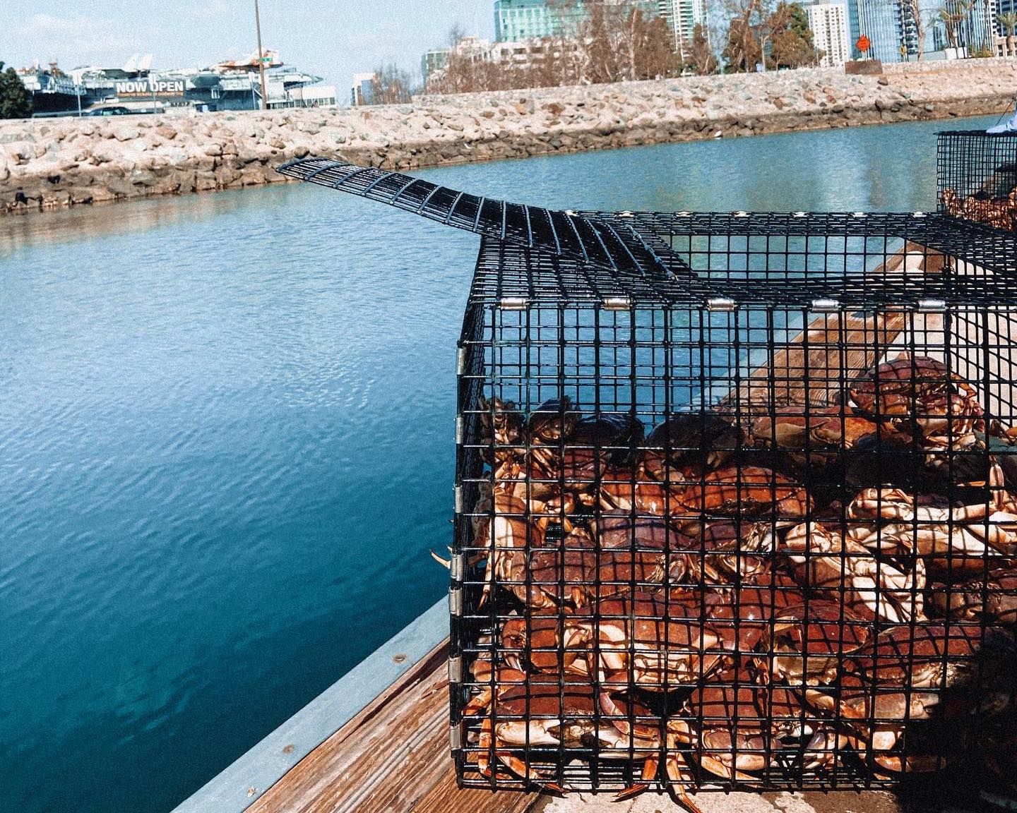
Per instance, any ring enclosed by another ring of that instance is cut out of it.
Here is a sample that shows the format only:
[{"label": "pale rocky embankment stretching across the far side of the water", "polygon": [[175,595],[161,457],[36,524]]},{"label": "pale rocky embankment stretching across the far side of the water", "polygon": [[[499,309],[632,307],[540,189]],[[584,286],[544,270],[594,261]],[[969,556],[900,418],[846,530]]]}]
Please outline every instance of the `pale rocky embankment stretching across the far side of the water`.
[{"label": "pale rocky embankment stretching across the far side of the water", "polygon": [[1002,113],[1017,59],[690,77],[411,105],[0,122],[0,211],[285,181],[307,154],[393,170]]}]

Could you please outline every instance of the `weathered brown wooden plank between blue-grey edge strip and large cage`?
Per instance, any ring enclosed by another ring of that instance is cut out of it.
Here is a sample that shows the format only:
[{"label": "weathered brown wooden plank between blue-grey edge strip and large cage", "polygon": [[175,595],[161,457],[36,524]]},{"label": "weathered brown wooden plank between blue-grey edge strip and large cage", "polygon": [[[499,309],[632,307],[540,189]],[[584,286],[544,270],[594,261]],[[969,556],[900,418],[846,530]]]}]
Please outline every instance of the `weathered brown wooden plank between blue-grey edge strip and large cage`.
[{"label": "weathered brown wooden plank between blue-grey edge strip and large cage", "polygon": [[447,641],[293,767],[250,813],[522,813],[537,796],[459,790]]}]

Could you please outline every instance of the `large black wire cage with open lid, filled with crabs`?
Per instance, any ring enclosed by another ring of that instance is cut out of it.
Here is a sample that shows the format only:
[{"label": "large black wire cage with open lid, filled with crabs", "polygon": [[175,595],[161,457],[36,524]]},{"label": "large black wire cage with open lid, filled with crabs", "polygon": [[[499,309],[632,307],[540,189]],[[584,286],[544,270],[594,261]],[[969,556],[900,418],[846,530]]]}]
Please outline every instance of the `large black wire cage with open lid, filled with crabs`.
[{"label": "large black wire cage with open lid, filled with crabs", "polygon": [[450,562],[461,785],[695,807],[1013,773],[1017,237],[282,171],[481,237]]}]

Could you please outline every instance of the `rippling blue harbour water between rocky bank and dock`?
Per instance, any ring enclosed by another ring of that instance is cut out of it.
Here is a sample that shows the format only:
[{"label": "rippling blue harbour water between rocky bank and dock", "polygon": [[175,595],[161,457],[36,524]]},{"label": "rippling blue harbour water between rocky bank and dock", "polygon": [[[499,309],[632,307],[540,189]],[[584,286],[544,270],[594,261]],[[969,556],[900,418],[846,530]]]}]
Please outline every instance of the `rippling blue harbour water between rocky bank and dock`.
[{"label": "rippling blue harbour water between rocky bank and dock", "polygon": [[[419,174],[930,209],[942,127]],[[0,218],[0,811],[169,810],[439,598],[476,245],[301,185]]]}]

